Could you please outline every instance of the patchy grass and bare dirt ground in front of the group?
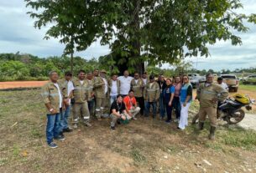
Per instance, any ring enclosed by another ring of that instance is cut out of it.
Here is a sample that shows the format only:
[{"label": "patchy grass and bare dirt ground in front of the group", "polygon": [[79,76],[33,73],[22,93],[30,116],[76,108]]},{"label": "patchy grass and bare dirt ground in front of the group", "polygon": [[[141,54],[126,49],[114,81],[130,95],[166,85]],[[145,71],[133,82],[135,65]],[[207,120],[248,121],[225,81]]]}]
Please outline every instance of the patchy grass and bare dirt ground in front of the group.
[{"label": "patchy grass and bare dirt ground in front of the group", "polygon": [[251,130],[220,125],[217,140],[209,141],[208,124],[179,131],[175,124],[138,118],[112,132],[110,120],[92,120],[91,128],[80,125],[53,150],[45,145],[39,90],[0,95],[0,172],[256,172]]}]

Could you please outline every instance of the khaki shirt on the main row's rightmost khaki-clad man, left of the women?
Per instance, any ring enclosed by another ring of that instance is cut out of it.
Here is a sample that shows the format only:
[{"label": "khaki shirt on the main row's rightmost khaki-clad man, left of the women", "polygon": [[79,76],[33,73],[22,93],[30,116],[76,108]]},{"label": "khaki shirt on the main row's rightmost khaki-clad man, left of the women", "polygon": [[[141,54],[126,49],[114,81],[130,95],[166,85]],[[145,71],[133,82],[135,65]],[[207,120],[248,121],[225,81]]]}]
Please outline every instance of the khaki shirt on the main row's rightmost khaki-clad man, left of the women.
[{"label": "khaki shirt on the main row's rightmost khaki-clad man, left of the women", "polygon": [[[151,87],[150,87],[150,84],[152,84]],[[159,94],[160,94],[159,84],[157,84],[157,82],[146,84],[144,88],[144,99],[146,101],[149,101],[149,102],[156,101],[157,99],[159,99]]]}]

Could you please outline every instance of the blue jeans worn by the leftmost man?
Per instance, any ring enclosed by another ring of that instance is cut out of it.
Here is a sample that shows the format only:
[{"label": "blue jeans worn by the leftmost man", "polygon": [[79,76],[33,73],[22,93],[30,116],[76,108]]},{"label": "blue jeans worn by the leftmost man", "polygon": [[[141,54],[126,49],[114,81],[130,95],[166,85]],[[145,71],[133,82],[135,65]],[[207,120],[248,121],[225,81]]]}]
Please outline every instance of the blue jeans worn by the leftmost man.
[{"label": "blue jeans worn by the leftmost man", "polygon": [[47,114],[46,140],[48,144],[54,140],[54,137],[60,135],[60,128],[60,113]]}]

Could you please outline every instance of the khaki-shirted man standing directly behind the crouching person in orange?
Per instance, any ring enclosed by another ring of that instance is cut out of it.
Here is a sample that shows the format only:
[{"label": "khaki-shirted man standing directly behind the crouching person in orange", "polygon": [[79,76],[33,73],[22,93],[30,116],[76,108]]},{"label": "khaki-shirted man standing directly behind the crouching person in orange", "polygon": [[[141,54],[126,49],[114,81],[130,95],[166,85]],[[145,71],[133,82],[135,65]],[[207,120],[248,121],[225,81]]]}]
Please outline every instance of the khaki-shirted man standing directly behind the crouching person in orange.
[{"label": "khaki-shirted man standing directly behind the crouching person in orange", "polygon": [[134,79],[131,81],[131,89],[134,91],[134,97],[140,108],[140,115],[144,114],[144,81],[139,78],[138,73],[134,73]]}]

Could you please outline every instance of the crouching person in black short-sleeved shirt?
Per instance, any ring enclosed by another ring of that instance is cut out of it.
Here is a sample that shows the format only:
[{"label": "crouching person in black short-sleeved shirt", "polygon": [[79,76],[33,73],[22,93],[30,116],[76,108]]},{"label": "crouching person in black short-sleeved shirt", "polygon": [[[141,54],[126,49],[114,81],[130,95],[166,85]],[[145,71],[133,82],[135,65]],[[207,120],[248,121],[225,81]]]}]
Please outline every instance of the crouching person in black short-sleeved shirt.
[{"label": "crouching person in black short-sleeved shirt", "polygon": [[123,103],[123,97],[121,94],[118,94],[117,99],[111,104],[110,117],[112,119],[110,124],[111,130],[115,130],[115,125],[118,120],[123,120],[124,122],[127,122],[131,119],[126,111],[126,107]]}]

